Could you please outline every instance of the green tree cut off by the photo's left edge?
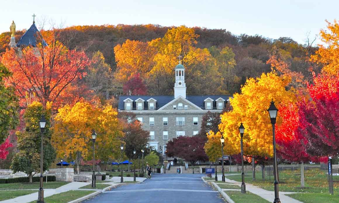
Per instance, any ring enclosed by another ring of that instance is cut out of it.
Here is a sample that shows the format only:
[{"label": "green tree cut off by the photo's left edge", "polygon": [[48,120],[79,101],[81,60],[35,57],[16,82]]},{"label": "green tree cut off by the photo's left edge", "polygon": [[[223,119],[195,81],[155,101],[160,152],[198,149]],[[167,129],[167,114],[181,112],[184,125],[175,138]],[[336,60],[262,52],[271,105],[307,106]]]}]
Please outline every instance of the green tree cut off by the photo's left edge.
[{"label": "green tree cut off by the photo's left edge", "polygon": [[0,144],[8,136],[8,130],[18,123],[18,99],[13,87],[5,87],[4,78],[11,76],[11,72],[0,63]]}]

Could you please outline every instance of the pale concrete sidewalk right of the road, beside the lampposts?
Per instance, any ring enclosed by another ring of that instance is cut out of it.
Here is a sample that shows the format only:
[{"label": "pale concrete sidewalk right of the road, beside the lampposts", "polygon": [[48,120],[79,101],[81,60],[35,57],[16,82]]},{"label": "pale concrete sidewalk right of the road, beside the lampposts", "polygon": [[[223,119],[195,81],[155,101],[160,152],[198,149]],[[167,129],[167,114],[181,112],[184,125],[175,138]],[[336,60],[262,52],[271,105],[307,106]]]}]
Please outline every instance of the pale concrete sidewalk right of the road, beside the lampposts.
[{"label": "pale concrete sidewalk right of the road, beside the lampposts", "polygon": [[[237,175],[237,174],[235,174]],[[226,175],[225,175],[226,176]],[[222,175],[218,175],[218,180],[221,180]],[[228,183],[233,183],[235,185],[238,185],[239,187],[241,187],[241,182],[238,181],[234,181],[234,180],[230,180],[228,178],[225,177],[225,181]],[[269,202],[273,202],[274,200],[274,191],[268,191],[265,189],[262,189],[260,187],[254,186],[252,184],[249,183],[245,183],[246,184],[246,190],[252,192],[253,194],[256,194],[258,196],[260,196],[261,198],[269,201]],[[273,183],[272,183],[273,184]],[[226,190],[230,190],[230,189],[222,189],[223,191]],[[293,194],[293,193],[299,193],[299,192],[279,192],[279,198],[281,202],[288,202],[288,203],[303,203],[300,202],[296,199],[293,199],[291,197],[286,196],[286,194]]]}]

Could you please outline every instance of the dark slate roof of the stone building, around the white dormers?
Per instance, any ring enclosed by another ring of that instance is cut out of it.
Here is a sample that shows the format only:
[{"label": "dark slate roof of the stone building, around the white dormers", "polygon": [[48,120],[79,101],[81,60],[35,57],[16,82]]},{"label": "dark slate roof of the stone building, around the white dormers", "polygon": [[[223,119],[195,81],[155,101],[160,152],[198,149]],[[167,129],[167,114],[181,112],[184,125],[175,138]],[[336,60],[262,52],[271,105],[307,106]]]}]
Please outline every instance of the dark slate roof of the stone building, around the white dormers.
[{"label": "dark slate roof of the stone building, around the white dormers", "polygon": [[[207,98],[211,98],[214,100],[213,102],[213,106],[216,107],[216,102],[215,100],[218,99],[219,97],[223,98],[224,100],[227,101],[227,99],[229,99],[230,97],[232,97],[232,95],[204,95],[204,96],[186,96],[186,99],[192,103],[194,103],[195,105],[199,106],[200,108],[204,109],[205,105],[204,105],[204,100]],[[156,109],[159,109],[161,107],[163,107],[164,105],[168,104],[168,102],[172,101],[174,99],[174,96],[128,96],[128,95],[124,95],[124,96],[119,96],[119,103],[118,103],[118,110],[124,110],[125,106],[124,106],[124,100],[130,98],[132,99],[133,102],[133,110],[136,109],[135,106],[135,100],[141,98],[143,100],[145,100],[144,102],[144,107],[145,109],[147,109],[147,100],[150,98],[153,98],[155,100],[157,100],[156,102]]]}]

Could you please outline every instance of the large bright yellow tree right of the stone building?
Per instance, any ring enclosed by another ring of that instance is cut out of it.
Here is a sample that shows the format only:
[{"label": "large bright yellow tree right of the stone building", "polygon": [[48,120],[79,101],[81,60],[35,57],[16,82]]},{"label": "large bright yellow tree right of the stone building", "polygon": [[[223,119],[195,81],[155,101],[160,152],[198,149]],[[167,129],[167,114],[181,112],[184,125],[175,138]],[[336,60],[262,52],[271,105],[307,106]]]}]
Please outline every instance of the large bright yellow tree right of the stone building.
[{"label": "large bright yellow tree right of the stone building", "polygon": [[[231,154],[240,153],[239,126],[245,127],[243,137],[244,154],[261,157],[273,156],[272,125],[266,109],[271,100],[279,108],[281,102],[296,100],[293,88],[286,90],[290,83],[289,77],[277,76],[274,72],[262,74],[260,78],[247,79],[241,88],[241,94],[234,94],[230,99],[232,111],[221,116],[219,130],[223,133],[225,142],[231,146]],[[281,120],[277,119],[277,122]]]}]

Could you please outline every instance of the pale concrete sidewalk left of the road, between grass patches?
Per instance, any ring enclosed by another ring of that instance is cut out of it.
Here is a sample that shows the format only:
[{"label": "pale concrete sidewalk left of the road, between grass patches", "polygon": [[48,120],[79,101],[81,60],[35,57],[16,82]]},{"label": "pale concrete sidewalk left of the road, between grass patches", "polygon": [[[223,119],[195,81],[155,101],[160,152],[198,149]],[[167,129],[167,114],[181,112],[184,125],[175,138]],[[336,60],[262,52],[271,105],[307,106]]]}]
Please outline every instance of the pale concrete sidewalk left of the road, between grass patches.
[{"label": "pale concrete sidewalk left of the road, between grass patches", "polygon": [[[69,190],[76,190],[79,187],[83,187],[88,184],[89,183],[83,183],[83,182],[70,182],[56,189],[44,189],[44,197],[46,198],[46,197],[59,194],[61,192],[66,192]],[[38,199],[38,192],[34,192],[29,195],[24,195],[24,196],[16,197],[13,199],[0,201],[0,203],[27,203],[27,202],[37,201],[37,199]]]}]

